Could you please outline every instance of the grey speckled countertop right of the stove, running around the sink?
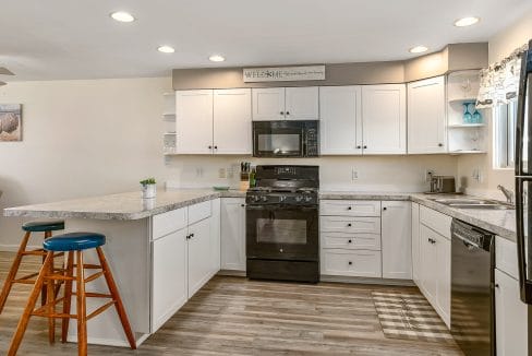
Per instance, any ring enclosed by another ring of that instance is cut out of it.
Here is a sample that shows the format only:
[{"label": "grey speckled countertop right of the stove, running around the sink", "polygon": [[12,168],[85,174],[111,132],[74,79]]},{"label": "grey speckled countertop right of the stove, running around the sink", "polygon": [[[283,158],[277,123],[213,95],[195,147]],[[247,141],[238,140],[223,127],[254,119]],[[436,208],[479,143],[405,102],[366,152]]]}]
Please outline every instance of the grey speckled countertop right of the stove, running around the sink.
[{"label": "grey speckled countertop right of the stove, running around the sink", "polygon": [[352,200],[410,200],[431,207],[437,212],[459,218],[471,225],[484,228],[500,237],[516,241],[516,211],[515,210],[482,210],[456,209],[434,201],[438,198],[479,198],[472,195],[424,194],[407,192],[349,192],[321,191],[321,199],[352,199]]}]

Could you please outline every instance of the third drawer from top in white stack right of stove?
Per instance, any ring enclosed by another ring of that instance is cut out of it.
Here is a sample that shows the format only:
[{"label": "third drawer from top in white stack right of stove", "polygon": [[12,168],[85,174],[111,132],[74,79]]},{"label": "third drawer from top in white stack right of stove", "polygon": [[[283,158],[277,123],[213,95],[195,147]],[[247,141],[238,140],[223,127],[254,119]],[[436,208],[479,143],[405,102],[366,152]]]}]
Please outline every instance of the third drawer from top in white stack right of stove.
[{"label": "third drawer from top in white stack right of stove", "polygon": [[322,233],[322,248],[350,250],[380,250],[378,234]]}]

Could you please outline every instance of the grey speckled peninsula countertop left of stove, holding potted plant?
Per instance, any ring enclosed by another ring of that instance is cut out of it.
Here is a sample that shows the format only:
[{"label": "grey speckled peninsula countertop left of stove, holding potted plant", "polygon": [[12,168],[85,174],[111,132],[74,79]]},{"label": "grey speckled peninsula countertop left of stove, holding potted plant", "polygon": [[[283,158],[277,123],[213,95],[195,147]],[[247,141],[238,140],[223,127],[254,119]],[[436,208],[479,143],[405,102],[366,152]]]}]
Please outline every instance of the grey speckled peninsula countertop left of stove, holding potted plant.
[{"label": "grey speckled peninsula countertop left of stove, holding potted plant", "polygon": [[3,210],[3,215],[37,218],[140,219],[220,197],[245,197],[245,192],[215,191],[213,189],[159,189],[155,199],[142,199],[141,192],[135,191],[9,207]]}]

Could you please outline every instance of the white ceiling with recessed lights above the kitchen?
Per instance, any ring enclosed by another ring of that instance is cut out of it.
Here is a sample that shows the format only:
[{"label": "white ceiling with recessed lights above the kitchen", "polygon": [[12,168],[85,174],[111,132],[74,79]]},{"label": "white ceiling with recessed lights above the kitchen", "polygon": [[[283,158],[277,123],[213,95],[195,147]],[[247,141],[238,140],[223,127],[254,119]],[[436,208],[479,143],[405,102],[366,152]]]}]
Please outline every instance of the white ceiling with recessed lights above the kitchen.
[{"label": "white ceiling with recessed lights above the kitchen", "polygon": [[[382,61],[486,41],[531,0],[3,0],[0,67],[58,80],[170,75],[172,68]],[[137,21],[118,23],[109,13]],[[480,24],[457,28],[461,16]],[[161,44],[176,47],[159,54]],[[211,54],[227,57],[211,63]]]}]

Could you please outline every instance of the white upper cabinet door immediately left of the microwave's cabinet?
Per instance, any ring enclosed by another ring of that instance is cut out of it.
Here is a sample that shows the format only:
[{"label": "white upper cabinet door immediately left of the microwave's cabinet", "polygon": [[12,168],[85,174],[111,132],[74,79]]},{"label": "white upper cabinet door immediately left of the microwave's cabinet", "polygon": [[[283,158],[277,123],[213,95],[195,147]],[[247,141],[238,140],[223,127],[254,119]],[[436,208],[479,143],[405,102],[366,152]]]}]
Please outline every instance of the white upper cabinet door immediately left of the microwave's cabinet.
[{"label": "white upper cabinet door immediately left of the microwave's cabinet", "polygon": [[252,153],[250,88],[214,91],[213,132],[215,154]]}]

